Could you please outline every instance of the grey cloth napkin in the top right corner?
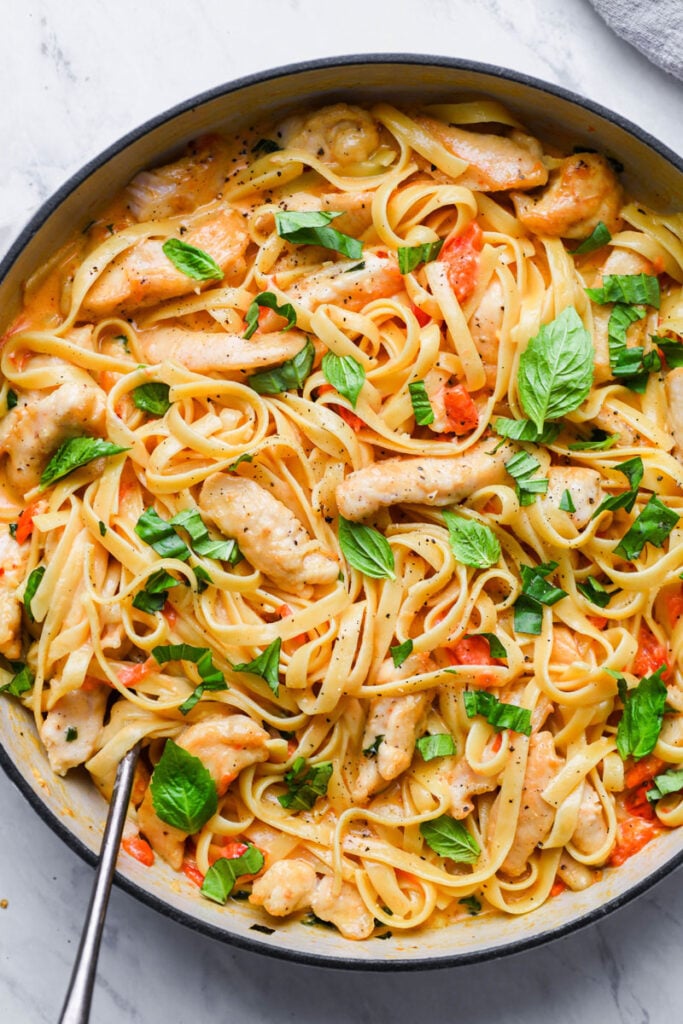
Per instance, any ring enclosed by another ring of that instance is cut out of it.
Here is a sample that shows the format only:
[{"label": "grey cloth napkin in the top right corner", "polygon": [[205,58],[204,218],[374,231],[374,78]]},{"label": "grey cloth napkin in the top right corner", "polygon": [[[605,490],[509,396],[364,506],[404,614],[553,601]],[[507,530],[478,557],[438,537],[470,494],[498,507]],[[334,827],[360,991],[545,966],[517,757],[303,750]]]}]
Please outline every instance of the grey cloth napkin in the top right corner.
[{"label": "grey cloth napkin in the top right corner", "polygon": [[683,0],[591,0],[598,14],[648,60],[683,79]]}]

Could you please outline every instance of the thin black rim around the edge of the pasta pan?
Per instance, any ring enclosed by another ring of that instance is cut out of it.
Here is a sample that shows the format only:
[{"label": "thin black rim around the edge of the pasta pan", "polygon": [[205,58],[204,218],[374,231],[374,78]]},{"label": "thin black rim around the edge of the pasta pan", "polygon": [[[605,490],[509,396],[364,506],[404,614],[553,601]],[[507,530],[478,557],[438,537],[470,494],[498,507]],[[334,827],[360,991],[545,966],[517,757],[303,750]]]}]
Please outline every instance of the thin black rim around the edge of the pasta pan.
[{"label": "thin black rim around the edge of the pasta pan", "polygon": [[[683,173],[683,158],[681,158],[669,146],[665,145],[665,143],[659,141],[657,138],[650,135],[644,129],[629,121],[628,118],[625,118],[622,115],[608,110],[602,104],[573,92],[572,90],[566,89],[563,86],[555,85],[553,83],[546,82],[543,79],[538,79],[522,72],[503,68],[499,65],[488,65],[476,60],[466,60],[459,57],[412,53],[342,54],[339,56],[324,57],[315,60],[303,60],[246,75],[222,85],[215,86],[212,89],[205,90],[204,92],[193,96],[190,99],[176,103],[164,111],[162,114],[147,119],[138,127],[121,136],[121,138],[113,142],[97,156],[93,157],[79,171],[69,177],[52,194],[52,196],[40,206],[38,211],[33,215],[33,217],[31,217],[27,225],[16,237],[2,261],[0,261],[0,283],[4,281],[19,254],[38,232],[40,227],[76,188],[78,188],[91,174],[102,167],[109,160],[116,157],[127,146],[154,131],[156,128],[194,110],[197,106],[201,106],[204,103],[218,99],[221,96],[228,95],[252,85],[262,84],[278,78],[293,77],[309,71],[321,71],[324,69],[346,68],[361,65],[417,65],[420,67],[436,67],[446,70],[469,71],[506,79],[520,85],[528,86],[529,88],[536,89],[540,92],[547,92],[574,105],[581,106],[591,114],[595,114],[605,121],[616,125],[618,128],[649,146],[649,148],[653,150],[659,156],[664,157]],[[47,805],[41,801],[38,794],[31,787],[27,779],[22,775],[8,752],[1,743],[0,766],[2,766],[8,778],[19,790],[23,796],[28,800],[29,804],[34,808],[48,827],[55,833],[55,835],[57,835],[71,850],[85,860],[86,863],[91,866],[96,864],[98,859],[97,855],[93,853],[84,843],[82,843],[73,833],[71,833],[65,823],[47,807]],[[437,957],[432,956],[431,958],[425,959],[349,959],[343,956],[331,956],[325,954],[315,955],[301,950],[288,949],[274,945],[271,946],[263,940],[252,940],[246,936],[226,932],[224,929],[217,928],[209,922],[199,921],[182,910],[171,907],[163,900],[147,892],[145,889],[142,889],[140,886],[136,885],[119,871],[116,872],[115,882],[116,885],[128,895],[133,896],[141,903],[152,907],[152,909],[156,910],[163,916],[170,919],[176,924],[183,925],[191,931],[199,932],[209,938],[217,939],[220,942],[237,946],[238,948],[248,950],[249,952],[272,956],[289,963],[302,964],[307,967],[329,968],[336,970],[353,970],[359,972],[434,971],[444,968],[454,968],[502,959],[504,956],[510,956],[515,953],[524,952],[528,949],[533,949],[538,946],[547,945],[549,942],[554,942],[557,939],[573,934],[574,932],[586,928],[588,925],[601,921],[614,910],[626,906],[632,900],[647,892],[658,882],[661,882],[681,864],[683,864],[683,850],[671,857],[666,864],[661,864],[654,871],[649,872],[645,878],[641,879],[640,882],[635,883],[628,891],[620,893],[617,896],[607,900],[599,907],[595,907],[593,910],[587,911],[559,928],[553,928],[551,930],[541,932],[538,935],[529,935],[527,938],[522,940],[516,939],[502,944],[501,946],[493,946],[486,949],[473,950],[471,952],[453,953],[451,955],[445,954]],[[274,931],[274,934],[278,934],[276,930]]]}]

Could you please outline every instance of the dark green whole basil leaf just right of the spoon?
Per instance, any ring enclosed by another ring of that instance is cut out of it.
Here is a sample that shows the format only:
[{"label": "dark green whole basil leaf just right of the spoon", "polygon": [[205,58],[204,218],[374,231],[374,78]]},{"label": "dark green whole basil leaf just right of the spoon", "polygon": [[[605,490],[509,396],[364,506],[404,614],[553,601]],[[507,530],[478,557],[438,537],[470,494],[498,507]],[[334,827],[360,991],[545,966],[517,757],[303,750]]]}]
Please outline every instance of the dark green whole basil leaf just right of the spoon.
[{"label": "dark green whole basil leaf just right of the spoon", "polygon": [[167,739],[150,782],[152,803],[166,824],[193,835],[218,809],[216,783],[199,758]]}]

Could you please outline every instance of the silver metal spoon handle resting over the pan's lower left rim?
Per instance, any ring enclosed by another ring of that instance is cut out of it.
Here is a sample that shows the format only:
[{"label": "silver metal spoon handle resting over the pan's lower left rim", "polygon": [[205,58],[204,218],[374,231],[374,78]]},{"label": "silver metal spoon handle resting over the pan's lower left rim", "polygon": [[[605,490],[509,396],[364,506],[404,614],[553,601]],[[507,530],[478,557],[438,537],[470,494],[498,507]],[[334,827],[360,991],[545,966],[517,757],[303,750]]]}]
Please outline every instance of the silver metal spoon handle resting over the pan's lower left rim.
[{"label": "silver metal spoon handle resting over the pan's lower left rim", "polygon": [[59,1024],[88,1024],[90,1020],[99,942],[139,753],[140,744],[136,743],[123,758],[116,774],[104,837],[99,851],[99,863]]}]

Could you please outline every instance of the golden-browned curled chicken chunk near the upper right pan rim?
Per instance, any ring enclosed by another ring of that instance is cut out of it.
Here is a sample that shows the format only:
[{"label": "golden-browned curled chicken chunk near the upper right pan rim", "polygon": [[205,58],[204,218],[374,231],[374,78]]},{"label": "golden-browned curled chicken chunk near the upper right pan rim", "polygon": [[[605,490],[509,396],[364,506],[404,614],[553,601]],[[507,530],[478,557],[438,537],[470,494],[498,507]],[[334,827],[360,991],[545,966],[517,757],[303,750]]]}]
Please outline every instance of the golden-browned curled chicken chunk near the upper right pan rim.
[{"label": "golden-browned curled chicken chunk near the upper right pan rim", "polygon": [[567,157],[543,191],[513,191],[510,198],[519,220],[537,234],[586,239],[599,221],[611,234],[621,225],[622,186],[605,158],[595,153]]}]

